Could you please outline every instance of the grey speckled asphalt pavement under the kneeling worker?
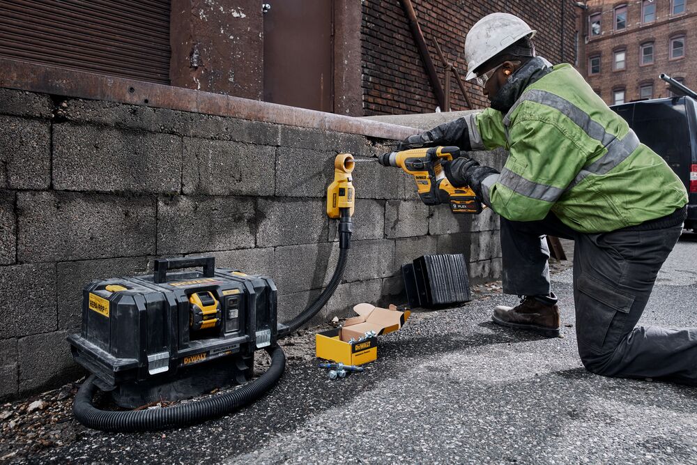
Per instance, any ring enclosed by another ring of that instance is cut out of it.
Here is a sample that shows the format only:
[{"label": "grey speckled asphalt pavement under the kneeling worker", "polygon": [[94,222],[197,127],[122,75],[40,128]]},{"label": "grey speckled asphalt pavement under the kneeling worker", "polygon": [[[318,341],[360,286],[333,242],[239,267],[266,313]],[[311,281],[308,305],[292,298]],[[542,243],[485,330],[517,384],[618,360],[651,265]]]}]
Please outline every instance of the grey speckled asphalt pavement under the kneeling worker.
[{"label": "grey speckled asphalt pavement under the kneeling worker", "polygon": [[[697,326],[696,263],[697,236],[684,235],[641,323]],[[492,308],[517,298],[480,295],[380,337],[365,373],[330,381],[316,360],[294,357],[268,395],[231,416],[158,433],[82,432],[28,461],[697,464],[697,388],[587,372],[571,278],[553,275],[562,338],[494,325]]]}]

